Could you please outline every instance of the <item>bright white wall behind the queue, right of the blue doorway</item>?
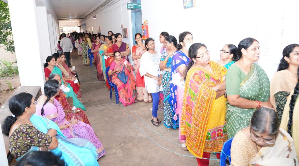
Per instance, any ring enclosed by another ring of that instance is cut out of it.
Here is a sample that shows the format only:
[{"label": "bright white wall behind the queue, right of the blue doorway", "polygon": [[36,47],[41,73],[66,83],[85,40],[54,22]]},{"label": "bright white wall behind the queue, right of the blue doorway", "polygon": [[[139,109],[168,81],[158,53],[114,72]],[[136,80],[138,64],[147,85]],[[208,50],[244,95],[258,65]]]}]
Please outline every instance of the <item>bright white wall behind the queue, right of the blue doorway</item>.
[{"label": "bright white wall behind the queue, right of the blue doorway", "polygon": [[259,64],[271,79],[283,48],[299,43],[298,4],[293,0],[198,1],[198,7],[184,9],[181,0],[142,0],[141,11],[158,50],[163,31],[177,39],[181,32],[192,32],[195,42],[208,47],[212,60],[219,59],[225,44],[238,46],[243,38],[256,38],[261,50]]}]

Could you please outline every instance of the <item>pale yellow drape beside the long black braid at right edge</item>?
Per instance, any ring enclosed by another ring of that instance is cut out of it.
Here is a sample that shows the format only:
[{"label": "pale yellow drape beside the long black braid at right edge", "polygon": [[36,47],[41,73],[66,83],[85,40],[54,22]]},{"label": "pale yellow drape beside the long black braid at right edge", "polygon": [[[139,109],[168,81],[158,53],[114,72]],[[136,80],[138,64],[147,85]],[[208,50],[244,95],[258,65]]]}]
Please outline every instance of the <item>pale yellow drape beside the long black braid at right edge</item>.
[{"label": "pale yellow drape beside the long black braid at right edge", "polygon": [[[285,131],[288,131],[288,123],[289,123],[289,111],[290,111],[290,102],[292,99],[292,95],[294,94],[294,91],[291,92],[291,94],[288,97],[288,100],[286,101],[286,105],[283,109],[283,114],[280,122],[280,128],[282,128]],[[299,97],[297,97],[295,101],[295,106],[293,109],[293,121],[292,121],[292,138],[294,139],[294,145],[295,150],[297,153],[297,158],[299,158],[299,103],[298,103]]]}]

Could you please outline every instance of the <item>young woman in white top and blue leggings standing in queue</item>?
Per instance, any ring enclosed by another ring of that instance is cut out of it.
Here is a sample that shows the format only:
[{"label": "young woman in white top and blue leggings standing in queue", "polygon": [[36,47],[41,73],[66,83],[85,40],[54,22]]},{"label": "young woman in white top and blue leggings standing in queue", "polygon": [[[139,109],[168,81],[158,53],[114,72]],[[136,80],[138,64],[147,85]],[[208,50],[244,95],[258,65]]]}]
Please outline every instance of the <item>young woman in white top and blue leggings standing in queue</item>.
[{"label": "young woman in white top and blue leggings standing in queue", "polygon": [[160,79],[160,59],[161,53],[155,51],[155,41],[153,38],[145,40],[147,52],[144,52],[140,59],[139,72],[140,76],[144,76],[144,83],[147,92],[152,95],[152,124],[156,127],[160,126],[161,120],[158,119],[159,93],[162,84]]}]

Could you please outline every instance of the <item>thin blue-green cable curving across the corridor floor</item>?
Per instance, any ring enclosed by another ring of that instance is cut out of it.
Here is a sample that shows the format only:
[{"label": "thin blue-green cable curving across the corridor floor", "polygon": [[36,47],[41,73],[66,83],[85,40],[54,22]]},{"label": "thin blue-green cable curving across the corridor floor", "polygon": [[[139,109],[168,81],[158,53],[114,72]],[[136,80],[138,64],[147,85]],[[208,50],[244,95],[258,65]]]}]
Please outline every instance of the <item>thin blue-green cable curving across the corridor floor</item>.
[{"label": "thin blue-green cable curving across the corridor floor", "polygon": [[[115,93],[115,91],[114,91],[114,93]],[[116,95],[116,93],[115,93],[115,96],[117,96]],[[118,97],[118,96],[117,96]],[[146,136],[149,140],[151,140],[153,143],[155,143],[156,145],[158,145],[160,148],[163,148],[163,149],[165,149],[165,150],[167,150],[167,151],[171,151],[171,152],[173,152],[173,153],[176,153],[176,154],[178,154],[178,155],[180,155],[180,156],[185,156],[185,157],[194,157],[194,158],[199,158],[199,159],[208,159],[208,160],[218,160],[217,158],[216,159],[210,159],[210,158],[202,158],[202,157],[196,157],[196,156],[190,156],[190,155],[184,155],[184,154],[181,154],[181,153],[178,153],[178,152],[176,152],[176,151],[173,151],[173,150],[171,150],[171,149],[168,149],[168,148],[165,148],[165,147],[163,147],[163,146],[161,146],[160,144],[158,144],[157,142],[155,142],[153,139],[151,139],[143,130],[141,130],[141,128],[139,128],[138,127],[138,125],[134,122],[134,120],[131,118],[131,116],[128,114],[128,112],[126,111],[126,109],[125,109],[125,107],[123,106],[123,103],[121,103],[120,102],[120,100],[119,100],[119,97],[118,97],[118,101],[119,101],[119,103],[121,104],[121,106],[123,107],[123,110],[126,112],[126,114],[127,114],[127,116],[130,118],[130,120],[133,122],[133,124],[136,126],[136,128],[138,128],[138,130],[139,131],[141,131],[141,133],[143,133],[144,134],[144,136]],[[131,109],[131,111],[145,124],[145,125],[147,125],[147,123],[145,123],[136,113],[135,113],[135,111],[133,111],[133,109],[128,105],[128,103],[127,103],[127,106]],[[149,127],[149,125],[147,125],[148,127]],[[168,141],[170,141],[170,142],[173,142],[173,143],[175,143],[175,144],[178,144],[178,143],[176,143],[176,142],[174,142],[174,141],[172,141],[172,140],[170,140],[170,139],[167,139],[166,137],[164,137],[164,136],[162,136],[161,134],[159,134],[159,133],[157,133],[154,129],[152,129],[151,127],[149,127],[152,131],[154,131],[156,134],[158,134],[159,136],[161,136],[161,137],[163,137],[164,139],[166,139],[166,140],[168,140]],[[178,145],[180,145],[180,144],[178,144]],[[180,145],[181,146],[181,145]],[[219,153],[219,152],[218,152]]]}]

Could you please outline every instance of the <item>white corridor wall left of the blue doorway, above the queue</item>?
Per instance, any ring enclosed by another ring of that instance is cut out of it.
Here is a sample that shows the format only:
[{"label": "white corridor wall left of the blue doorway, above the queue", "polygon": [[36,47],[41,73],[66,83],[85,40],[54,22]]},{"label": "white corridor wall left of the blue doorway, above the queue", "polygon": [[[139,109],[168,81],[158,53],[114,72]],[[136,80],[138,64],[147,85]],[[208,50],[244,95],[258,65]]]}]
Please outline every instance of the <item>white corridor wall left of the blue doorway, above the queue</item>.
[{"label": "white corridor wall left of the blue doorway, above the queue", "polygon": [[[127,10],[127,5],[125,2],[126,1],[119,1],[118,3],[112,5],[111,7],[96,14],[97,19],[93,19],[93,16],[85,19],[84,21],[86,23],[87,32],[89,28],[91,33],[91,27],[93,27],[93,32],[97,33],[97,27],[100,26],[101,34],[108,35],[109,30],[111,30],[113,33],[122,34],[121,25],[123,24],[123,28],[128,28],[128,38],[123,38],[123,42],[129,44],[129,48],[132,49],[133,45],[131,40],[132,38],[131,11]],[[121,4],[123,5],[120,7]],[[79,23],[79,25],[81,25],[81,23]],[[85,27],[82,26],[82,29],[85,30]],[[132,62],[131,55],[129,55],[129,60],[130,62]]]}]

